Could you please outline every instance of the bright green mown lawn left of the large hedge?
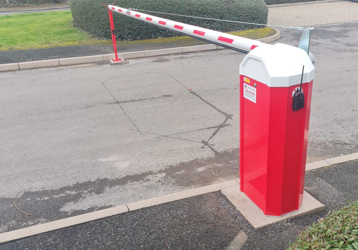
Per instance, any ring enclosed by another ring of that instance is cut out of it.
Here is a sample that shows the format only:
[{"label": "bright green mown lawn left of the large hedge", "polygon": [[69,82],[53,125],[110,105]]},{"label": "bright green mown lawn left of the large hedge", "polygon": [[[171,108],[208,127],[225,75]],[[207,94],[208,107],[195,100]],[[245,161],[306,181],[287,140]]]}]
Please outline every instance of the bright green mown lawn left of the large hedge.
[{"label": "bright green mown lawn left of the large hedge", "polygon": [[71,10],[0,16],[0,50],[76,44],[91,40],[72,27]]}]

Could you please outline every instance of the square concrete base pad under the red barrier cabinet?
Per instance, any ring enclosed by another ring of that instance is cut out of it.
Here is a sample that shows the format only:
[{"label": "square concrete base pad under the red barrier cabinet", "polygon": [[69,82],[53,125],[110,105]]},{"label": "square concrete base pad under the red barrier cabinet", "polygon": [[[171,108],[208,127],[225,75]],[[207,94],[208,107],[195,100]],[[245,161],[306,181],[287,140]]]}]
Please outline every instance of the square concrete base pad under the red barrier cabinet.
[{"label": "square concrete base pad under the red barrier cabinet", "polygon": [[261,228],[282,220],[293,219],[306,214],[324,211],[324,205],[309,195],[306,191],[303,193],[303,203],[300,209],[281,217],[265,216],[262,210],[240,191],[240,187],[238,186],[223,189],[221,192],[236,207],[236,209],[241,212],[241,214],[254,228]]}]

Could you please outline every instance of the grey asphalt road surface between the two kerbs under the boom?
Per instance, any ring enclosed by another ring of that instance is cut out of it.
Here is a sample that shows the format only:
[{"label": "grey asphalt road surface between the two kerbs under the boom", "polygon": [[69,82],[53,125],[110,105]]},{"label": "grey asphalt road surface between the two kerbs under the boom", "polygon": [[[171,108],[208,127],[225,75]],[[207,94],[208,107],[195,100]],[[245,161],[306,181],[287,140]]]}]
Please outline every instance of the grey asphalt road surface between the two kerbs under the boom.
[{"label": "grey asphalt road surface between the two kerbs under the boom", "polygon": [[[311,36],[308,162],[358,151],[356,28],[318,26]],[[299,37],[283,30],[278,42]],[[1,73],[0,232],[238,177],[243,57]]]}]

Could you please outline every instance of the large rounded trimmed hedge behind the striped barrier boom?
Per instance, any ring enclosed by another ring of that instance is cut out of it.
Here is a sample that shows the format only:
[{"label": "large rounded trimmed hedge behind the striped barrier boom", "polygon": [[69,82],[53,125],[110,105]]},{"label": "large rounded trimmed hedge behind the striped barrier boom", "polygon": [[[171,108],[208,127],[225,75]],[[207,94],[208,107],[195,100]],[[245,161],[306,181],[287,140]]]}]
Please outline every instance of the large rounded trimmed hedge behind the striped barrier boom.
[{"label": "large rounded trimmed hedge behind the striped barrier boom", "polygon": [[[108,5],[112,4],[113,0],[104,0],[103,2]],[[111,39],[108,11],[105,6],[101,4],[101,0],[71,0],[70,4],[75,27],[89,32],[92,36]],[[268,15],[267,5],[264,0],[118,0],[115,5],[124,8],[259,24],[266,24]],[[162,14],[153,15],[224,32],[261,28],[255,25],[223,21]],[[113,13],[113,21],[116,38],[118,40],[140,40],[178,36],[177,33],[172,31],[160,29],[117,13]]]}]

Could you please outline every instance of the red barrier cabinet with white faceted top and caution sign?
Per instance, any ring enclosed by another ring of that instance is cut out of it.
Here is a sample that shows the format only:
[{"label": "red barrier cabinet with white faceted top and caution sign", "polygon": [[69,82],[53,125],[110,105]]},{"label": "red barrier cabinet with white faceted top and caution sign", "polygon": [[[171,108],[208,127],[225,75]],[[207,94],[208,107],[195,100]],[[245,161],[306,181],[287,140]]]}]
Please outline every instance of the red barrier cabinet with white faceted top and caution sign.
[{"label": "red barrier cabinet with white faceted top and caution sign", "polygon": [[[294,111],[301,77],[305,105]],[[265,215],[302,204],[313,77],[307,53],[284,44],[257,47],[240,65],[240,190]]]}]

